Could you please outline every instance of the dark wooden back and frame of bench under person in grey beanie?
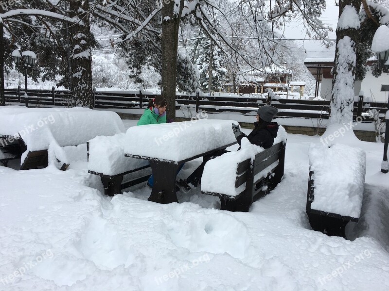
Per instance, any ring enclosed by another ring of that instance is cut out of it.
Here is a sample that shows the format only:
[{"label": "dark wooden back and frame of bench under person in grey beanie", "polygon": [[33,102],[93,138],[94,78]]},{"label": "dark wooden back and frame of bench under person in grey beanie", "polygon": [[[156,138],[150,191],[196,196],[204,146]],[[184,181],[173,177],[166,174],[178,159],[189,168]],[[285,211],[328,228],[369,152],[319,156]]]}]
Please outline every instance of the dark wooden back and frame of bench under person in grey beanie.
[{"label": "dark wooden back and frame of bench under person in grey beanie", "polygon": [[[258,153],[252,163],[247,159],[237,165],[235,188],[246,183],[240,194],[230,196],[206,191],[202,191],[202,194],[220,197],[221,210],[247,212],[254,201],[268,194],[280,183],[284,171],[285,146],[286,142],[280,142]],[[258,175],[260,173],[262,175]]]}]

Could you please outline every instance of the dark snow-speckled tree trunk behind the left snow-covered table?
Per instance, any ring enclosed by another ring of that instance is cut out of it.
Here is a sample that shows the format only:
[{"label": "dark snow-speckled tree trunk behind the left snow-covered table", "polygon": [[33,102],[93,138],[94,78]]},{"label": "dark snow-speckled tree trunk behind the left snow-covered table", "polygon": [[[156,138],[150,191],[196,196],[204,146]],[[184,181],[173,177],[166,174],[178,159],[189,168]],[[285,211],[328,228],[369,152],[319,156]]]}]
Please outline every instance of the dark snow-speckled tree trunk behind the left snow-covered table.
[{"label": "dark snow-speckled tree trunk behind the left snow-covered table", "polygon": [[71,90],[73,105],[92,108],[93,90],[89,2],[71,0],[70,16],[80,19],[79,23],[71,25]]}]

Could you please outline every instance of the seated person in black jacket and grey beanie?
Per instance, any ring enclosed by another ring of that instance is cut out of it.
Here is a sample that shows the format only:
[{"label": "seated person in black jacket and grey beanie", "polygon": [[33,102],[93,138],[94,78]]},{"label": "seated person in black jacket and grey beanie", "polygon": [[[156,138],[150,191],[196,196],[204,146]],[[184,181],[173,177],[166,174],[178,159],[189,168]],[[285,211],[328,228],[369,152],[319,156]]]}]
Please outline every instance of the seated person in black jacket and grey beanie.
[{"label": "seated person in black jacket and grey beanie", "polygon": [[255,128],[249,135],[240,131],[239,125],[232,124],[232,130],[235,138],[240,146],[241,140],[247,137],[253,145],[269,148],[273,146],[274,138],[277,137],[278,124],[271,122],[274,115],[278,113],[277,108],[271,105],[264,105],[257,111],[257,122],[254,122]]}]

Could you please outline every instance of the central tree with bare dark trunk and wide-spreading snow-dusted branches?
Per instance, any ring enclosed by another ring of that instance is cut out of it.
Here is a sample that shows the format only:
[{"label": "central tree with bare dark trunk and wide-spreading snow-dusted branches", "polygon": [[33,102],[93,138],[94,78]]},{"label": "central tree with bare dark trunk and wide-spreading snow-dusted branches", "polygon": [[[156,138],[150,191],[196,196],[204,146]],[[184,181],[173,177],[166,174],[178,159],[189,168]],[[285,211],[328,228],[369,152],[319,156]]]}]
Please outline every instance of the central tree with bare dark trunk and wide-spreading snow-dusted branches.
[{"label": "central tree with bare dark trunk and wide-spreading snow-dusted branches", "polygon": [[[331,40],[327,37],[328,27],[318,19],[321,11],[325,8],[325,0],[291,0],[285,3],[280,1],[247,0],[239,1],[235,7],[235,13],[242,14],[243,19],[250,19],[252,26],[246,31],[246,38],[250,40],[248,44],[256,42],[258,49],[255,54],[247,54],[234,45],[234,39],[238,37],[235,29],[230,25],[228,17],[225,15],[225,6],[219,6],[227,1],[192,0],[187,1],[184,6],[183,0],[164,0],[162,7],[151,9],[146,14],[138,7],[140,0],[126,1],[125,5],[120,0],[107,0],[107,7],[96,5],[96,9],[105,15],[106,21],[115,28],[127,30],[120,38],[120,42],[134,40],[138,34],[158,35],[160,31],[152,25],[154,17],[162,19],[161,54],[162,54],[162,96],[168,100],[168,118],[175,117],[175,95],[176,95],[176,75],[177,75],[177,43],[180,18],[194,19],[201,26],[204,33],[212,40],[212,44],[223,49],[223,45],[236,54],[236,58],[241,59],[247,66],[265,66],[276,63],[274,58],[275,46],[280,41],[271,37],[270,31],[273,27],[280,27],[285,21],[295,16],[301,15],[303,23],[309,30],[311,37],[320,38],[324,44],[329,46]],[[221,17],[226,28],[223,30],[219,25],[210,19],[209,11],[216,10]],[[159,13],[162,12],[162,15]],[[128,30],[123,27],[121,21],[128,21],[133,26]],[[122,26],[122,27],[121,27]],[[228,34],[227,35],[227,28]],[[224,31],[224,32],[223,32]],[[269,49],[269,44],[273,44],[273,49]],[[150,38],[150,45],[158,45]]]}]

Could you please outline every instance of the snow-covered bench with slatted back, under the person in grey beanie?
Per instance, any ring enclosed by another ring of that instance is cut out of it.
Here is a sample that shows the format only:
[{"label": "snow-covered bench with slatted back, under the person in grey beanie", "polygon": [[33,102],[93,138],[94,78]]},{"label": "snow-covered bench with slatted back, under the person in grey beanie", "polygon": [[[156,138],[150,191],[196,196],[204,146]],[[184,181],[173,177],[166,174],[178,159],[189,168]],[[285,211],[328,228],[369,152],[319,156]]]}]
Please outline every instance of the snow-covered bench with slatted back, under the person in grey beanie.
[{"label": "snow-covered bench with slatted back, under the person in grey beanie", "polygon": [[268,149],[242,139],[242,149],[228,152],[206,163],[201,193],[220,197],[221,210],[245,211],[260,197],[272,191],[284,171],[286,133],[278,130]]}]

